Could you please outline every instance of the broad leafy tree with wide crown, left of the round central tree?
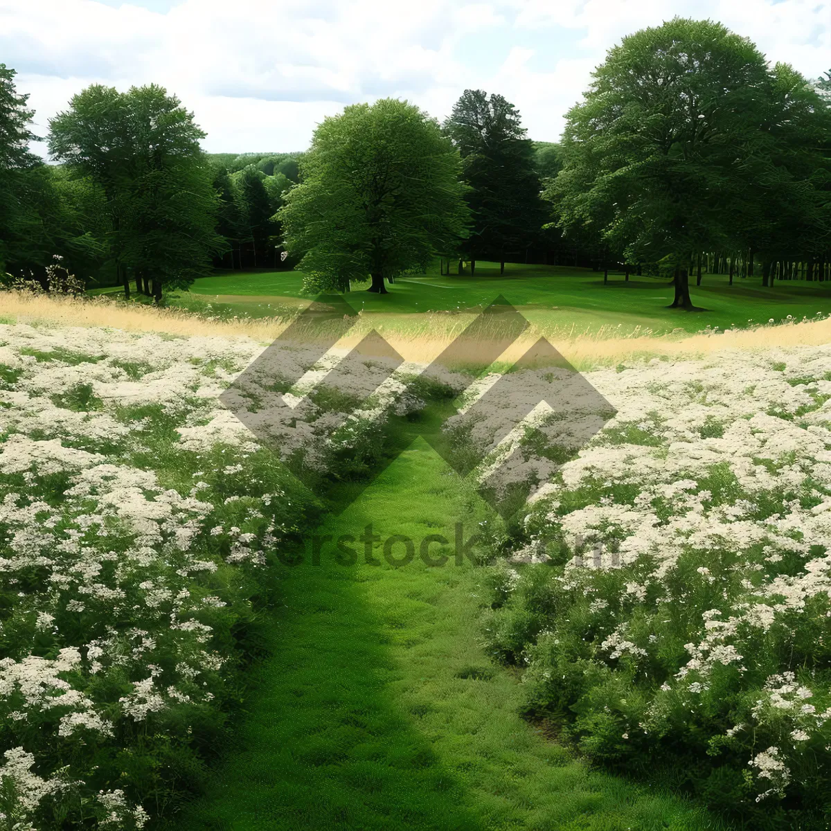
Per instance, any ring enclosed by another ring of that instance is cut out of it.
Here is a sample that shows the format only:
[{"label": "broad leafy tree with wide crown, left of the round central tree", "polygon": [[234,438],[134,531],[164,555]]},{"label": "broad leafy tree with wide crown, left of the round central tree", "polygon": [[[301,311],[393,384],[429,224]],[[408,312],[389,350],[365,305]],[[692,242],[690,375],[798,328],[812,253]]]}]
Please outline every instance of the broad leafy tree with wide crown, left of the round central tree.
[{"label": "broad leafy tree with wide crown, left of the round central tree", "polygon": [[127,297],[130,271],[160,300],[164,286],[188,284],[221,250],[204,132],[178,98],[155,84],[124,93],[94,84],[49,125],[52,155],[106,194]]}]

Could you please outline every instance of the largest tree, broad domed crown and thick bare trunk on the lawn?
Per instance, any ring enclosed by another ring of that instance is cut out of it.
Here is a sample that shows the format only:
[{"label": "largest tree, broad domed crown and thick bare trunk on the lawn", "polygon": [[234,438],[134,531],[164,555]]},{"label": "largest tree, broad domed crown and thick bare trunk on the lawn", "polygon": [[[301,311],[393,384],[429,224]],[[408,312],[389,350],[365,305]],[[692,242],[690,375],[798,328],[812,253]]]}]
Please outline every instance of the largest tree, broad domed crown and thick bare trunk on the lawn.
[{"label": "largest tree, broad domed crown and thick bare trunk on the lawn", "polygon": [[672,263],[673,307],[691,308],[694,252],[737,248],[770,150],[770,73],[749,40],[676,17],[612,48],[568,112],[553,195],[563,228],[593,229],[612,253]]}]

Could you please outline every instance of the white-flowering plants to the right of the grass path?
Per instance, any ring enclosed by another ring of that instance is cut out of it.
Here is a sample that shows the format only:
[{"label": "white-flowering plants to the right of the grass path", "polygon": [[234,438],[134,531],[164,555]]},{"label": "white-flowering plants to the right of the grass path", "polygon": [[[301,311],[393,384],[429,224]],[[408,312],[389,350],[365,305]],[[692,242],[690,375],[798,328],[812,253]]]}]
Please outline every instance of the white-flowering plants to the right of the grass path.
[{"label": "white-flowering plants to the right of the grass path", "polygon": [[682,760],[754,828],[828,819],[831,347],[587,377],[617,416],[490,575],[494,655],[597,760]]}]

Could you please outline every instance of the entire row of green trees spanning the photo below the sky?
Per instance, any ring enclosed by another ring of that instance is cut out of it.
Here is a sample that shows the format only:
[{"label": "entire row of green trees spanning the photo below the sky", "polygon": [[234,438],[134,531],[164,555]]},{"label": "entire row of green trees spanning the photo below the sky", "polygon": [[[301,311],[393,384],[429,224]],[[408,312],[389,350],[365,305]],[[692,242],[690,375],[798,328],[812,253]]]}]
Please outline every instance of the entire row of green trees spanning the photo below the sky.
[{"label": "entire row of green trees spanning the photo below the sky", "polygon": [[[763,285],[831,262],[831,76],[770,66],[719,23],[676,18],[612,48],[558,144],[466,90],[439,125],[401,101],[349,106],[305,153],[215,154],[158,86],[91,86],[50,120],[57,165],[0,65],[0,274],[54,255],[159,298],[212,265],[288,268],[310,290],[487,259]],[[725,271],[726,270],[726,271]]]}]

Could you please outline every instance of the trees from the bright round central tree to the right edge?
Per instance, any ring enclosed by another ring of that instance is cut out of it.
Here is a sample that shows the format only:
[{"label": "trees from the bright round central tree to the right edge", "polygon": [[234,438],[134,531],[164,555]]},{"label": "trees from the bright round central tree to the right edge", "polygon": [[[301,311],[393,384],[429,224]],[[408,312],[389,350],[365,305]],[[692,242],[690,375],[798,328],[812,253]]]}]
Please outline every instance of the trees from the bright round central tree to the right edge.
[{"label": "trees from the bright round central tree to the right edge", "polygon": [[443,273],[475,273],[523,251],[664,275],[683,308],[708,264],[740,278],[758,267],[768,286],[828,273],[829,79],[770,66],[720,23],[624,38],[558,145],[534,144],[484,91],[466,90],[440,126],[399,104],[347,107],[315,132],[280,212],[310,290],[371,279],[384,293],[436,254]]}]

